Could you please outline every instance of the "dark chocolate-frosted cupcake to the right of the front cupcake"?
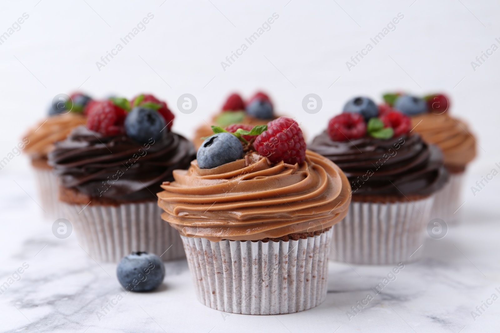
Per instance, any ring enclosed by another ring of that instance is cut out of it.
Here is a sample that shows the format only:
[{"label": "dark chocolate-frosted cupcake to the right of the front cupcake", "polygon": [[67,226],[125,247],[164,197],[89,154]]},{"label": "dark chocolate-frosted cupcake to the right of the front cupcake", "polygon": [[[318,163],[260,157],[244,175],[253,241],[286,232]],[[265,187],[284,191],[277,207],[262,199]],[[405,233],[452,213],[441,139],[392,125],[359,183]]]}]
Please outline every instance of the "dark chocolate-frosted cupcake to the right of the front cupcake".
[{"label": "dark chocolate-frosted cupcake to the right of the front cupcake", "polygon": [[422,253],[434,194],[448,174],[439,148],[410,126],[408,116],[379,115],[372,100],[356,97],[313,139],[309,149],[337,164],[352,187],[349,211],[333,227],[332,260],[388,265]]}]

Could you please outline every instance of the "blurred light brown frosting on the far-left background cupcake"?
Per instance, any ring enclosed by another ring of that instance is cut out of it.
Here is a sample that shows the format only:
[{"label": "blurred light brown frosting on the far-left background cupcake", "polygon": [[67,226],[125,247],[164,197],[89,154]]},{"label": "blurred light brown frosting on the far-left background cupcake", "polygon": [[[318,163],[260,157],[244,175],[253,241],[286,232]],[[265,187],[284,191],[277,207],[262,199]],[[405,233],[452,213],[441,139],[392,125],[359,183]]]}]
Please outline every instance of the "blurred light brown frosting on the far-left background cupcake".
[{"label": "blurred light brown frosting on the far-left background cupcake", "polygon": [[54,142],[64,140],[73,128],[84,123],[85,117],[75,113],[55,115],[39,121],[24,135],[29,140],[24,152],[32,158],[45,158],[53,149]]}]

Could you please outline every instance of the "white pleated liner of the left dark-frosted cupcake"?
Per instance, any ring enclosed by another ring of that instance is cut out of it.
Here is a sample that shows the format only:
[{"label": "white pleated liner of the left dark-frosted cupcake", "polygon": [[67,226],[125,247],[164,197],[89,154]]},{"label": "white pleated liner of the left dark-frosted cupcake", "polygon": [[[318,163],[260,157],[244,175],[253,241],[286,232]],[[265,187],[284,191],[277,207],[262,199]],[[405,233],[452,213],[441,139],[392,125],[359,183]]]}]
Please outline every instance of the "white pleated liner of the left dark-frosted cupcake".
[{"label": "white pleated liner of the left dark-frosted cupcake", "polygon": [[163,261],[185,257],[179,233],[161,220],[156,202],[63,206],[79,243],[96,261],[116,263],[137,251],[154,253]]}]

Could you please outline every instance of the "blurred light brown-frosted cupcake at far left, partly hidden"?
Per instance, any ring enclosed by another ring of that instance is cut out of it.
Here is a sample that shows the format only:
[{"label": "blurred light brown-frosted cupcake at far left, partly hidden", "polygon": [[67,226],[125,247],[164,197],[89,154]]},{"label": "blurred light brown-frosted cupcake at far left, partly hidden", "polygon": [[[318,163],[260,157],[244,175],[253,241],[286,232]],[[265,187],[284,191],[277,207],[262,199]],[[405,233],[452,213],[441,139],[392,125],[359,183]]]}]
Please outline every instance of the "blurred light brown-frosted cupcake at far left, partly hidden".
[{"label": "blurred light brown-frosted cupcake at far left, partly hidden", "polygon": [[90,97],[81,93],[71,94],[67,101],[55,101],[48,110],[48,118],[23,136],[23,151],[31,159],[41,208],[49,219],[61,218],[63,212],[57,201],[57,179],[47,163],[47,154],[55,142],[64,140],[73,128],[85,123],[83,109],[90,101]]}]

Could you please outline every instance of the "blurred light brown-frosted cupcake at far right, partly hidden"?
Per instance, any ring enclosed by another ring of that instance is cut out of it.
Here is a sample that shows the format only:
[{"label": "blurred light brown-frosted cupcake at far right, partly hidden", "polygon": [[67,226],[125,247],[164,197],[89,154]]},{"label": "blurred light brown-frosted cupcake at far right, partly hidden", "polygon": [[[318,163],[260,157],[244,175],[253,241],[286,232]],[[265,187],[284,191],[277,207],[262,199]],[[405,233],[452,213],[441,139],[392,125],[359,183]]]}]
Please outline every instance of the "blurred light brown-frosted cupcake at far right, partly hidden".
[{"label": "blurred light brown-frosted cupcake at far right, partly hidden", "polygon": [[458,208],[463,204],[460,196],[463,175],[476,154],[474,135],[464,121],[449,115],[449,99],[443,94],[423,98],[385,94],[384,99],[389,106],[411,116],[411,127],[424,141],[441,148],[450,177],[436,194],[430,217],[448,223],[457,221]]}]

